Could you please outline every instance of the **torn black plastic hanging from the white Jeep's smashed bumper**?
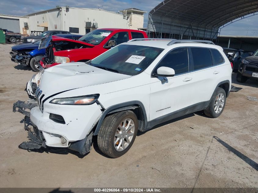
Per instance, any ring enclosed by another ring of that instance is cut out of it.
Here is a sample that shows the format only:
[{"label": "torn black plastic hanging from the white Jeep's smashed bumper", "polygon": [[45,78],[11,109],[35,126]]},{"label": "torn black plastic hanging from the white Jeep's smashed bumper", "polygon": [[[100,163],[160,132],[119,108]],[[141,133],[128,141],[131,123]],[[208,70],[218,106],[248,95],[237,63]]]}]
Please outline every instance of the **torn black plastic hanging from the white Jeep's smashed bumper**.
[{"label": "torn black plastic hanging from the white Jeep's smashed bumper", "polygon": [[19,148],[32,150],[32,149],[40,149],[46,148],[46,142],[44,136],[41,131],[38,130],[37,127],[33,126],[33,129],[29,127],[31,125],[30,119],[28,116],[24,117],[24,129],[28,131],[28,139],[29,141],[24,141],[19,145]]}]

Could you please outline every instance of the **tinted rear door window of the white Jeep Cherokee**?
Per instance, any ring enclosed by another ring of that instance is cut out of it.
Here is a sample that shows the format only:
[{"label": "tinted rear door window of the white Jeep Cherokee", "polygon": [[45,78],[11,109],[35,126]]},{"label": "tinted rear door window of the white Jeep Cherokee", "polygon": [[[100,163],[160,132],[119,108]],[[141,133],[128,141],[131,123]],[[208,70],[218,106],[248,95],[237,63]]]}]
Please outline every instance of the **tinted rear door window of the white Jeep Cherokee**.
[{"label": "tinted rear door window of the white Jeep Cherokee", "polygon": [[192,70],[207,68],[213,65],[209,48],[191,48],[193,55]]}]

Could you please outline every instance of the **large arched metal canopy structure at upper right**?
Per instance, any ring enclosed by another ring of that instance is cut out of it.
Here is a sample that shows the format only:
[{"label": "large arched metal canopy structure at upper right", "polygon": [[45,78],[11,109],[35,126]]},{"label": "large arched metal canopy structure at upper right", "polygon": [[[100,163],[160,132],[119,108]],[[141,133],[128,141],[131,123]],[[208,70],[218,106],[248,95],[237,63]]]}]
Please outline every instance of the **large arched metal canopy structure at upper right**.
[{"label": "large arched metal canopy structure at upper right", "polygon": [[256,12],[258,0],[165,0],[148,14],[147,34],[213,40],[221,28]]}]

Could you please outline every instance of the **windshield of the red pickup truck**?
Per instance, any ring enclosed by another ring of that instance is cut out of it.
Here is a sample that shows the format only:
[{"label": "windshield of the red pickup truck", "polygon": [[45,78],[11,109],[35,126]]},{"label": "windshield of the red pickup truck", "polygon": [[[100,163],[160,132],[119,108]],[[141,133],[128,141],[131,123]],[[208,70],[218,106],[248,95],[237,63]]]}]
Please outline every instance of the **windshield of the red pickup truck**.
[{"label": "windshield of the red pickup truck", "polygon": [[93,44],[93,45],[98,45],[100,42],[102,42],[109,34],[111,34],[112,31],[110,30],[93,30],[89,32],[88,34],[82,36],[80,38],[80,41],[85,41],[87,43]]}]

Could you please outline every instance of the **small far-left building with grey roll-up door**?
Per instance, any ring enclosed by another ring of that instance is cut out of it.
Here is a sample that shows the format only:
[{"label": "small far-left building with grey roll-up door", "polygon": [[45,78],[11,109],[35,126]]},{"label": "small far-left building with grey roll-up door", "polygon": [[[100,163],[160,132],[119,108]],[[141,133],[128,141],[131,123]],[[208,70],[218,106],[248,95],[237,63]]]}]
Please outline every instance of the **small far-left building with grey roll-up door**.
[{"label": "small far-left building with grey roll-up door", "polygon": [[0,27],[15,33],[28,33],[28,17],[0,14]]}]

